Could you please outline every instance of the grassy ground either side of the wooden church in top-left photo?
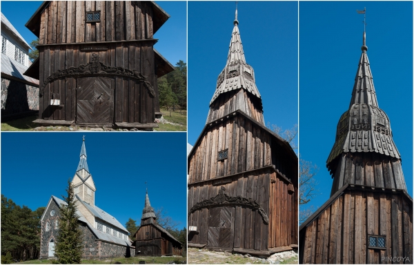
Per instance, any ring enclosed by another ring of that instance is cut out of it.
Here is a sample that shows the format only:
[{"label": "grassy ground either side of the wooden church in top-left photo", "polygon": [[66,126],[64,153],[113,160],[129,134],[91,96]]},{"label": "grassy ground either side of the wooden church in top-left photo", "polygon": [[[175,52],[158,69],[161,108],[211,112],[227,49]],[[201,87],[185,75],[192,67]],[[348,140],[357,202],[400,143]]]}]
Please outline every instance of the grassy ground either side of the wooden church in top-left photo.
[{"label": "grassy ground either side of the wooden church in top-left photo", "polygon": [[[171,111],[162,109],[161,112],[164,113],[164,119],[169,121],[172,124],[159,124],[159,128],[155,130],[159,131],[186,131],[187,130],[187,112],[186,110],[180,111]],[[34,128],[37,128],[37,131],[61,131],[61,130],[70,130],[68,126],[39,126],[39,124],[34,124],[32,121],[37,119],[37,116],[28,116],[21,119],[14,119],[12,121],[5,121],[1,123],[1,131],[30,131]]]}]

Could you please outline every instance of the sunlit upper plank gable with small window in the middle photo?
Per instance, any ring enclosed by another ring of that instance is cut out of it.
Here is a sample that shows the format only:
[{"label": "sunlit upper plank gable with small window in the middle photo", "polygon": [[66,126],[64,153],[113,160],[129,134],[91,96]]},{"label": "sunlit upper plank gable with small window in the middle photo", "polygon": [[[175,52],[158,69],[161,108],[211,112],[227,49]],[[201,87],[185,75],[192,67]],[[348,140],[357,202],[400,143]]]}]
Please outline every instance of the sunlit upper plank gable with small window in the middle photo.
[{"label": "sunlit upper plank gable with small window in the middle photo", "polygon": [[[274,165],[297,186],[297,159],[267,130],[243,115],[213,124],[201,137],[188,161],[188,184]],[[228,158],[217,153],[228,149]]]}]

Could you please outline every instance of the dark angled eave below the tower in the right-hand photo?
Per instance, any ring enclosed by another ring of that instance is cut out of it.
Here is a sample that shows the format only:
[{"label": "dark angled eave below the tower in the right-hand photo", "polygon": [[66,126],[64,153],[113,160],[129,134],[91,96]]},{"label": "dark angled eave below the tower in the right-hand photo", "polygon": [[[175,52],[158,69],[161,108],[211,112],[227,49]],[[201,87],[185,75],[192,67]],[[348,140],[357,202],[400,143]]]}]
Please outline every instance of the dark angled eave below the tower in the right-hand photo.
[{"label": "dark angled eave below the tower in the right-hand photo", "polygon": [[331,196],[321,207],[319,207],[313,215],[308,217],[305,222],[303,222],[299,226],[299,232],[306,228],[311,222],[313,222],[319,215],[326,210],[333,202],[335,202],[336,199],[339,198],[342,194],[346,192],[346,190],[357,190],[357,191],[365,191],[369,193],[399,193],[405,196],[409,202],[411,202],[411,205],[413,205],[413,198],[411,198],[410,195],[405,190],[401,189],[395,189],[395,188],[380,188],[380,187],[373,187],[373,186],[364,186],[364,185],[357,185],[357,184],[346,184],[342,186],[334,195]]}]

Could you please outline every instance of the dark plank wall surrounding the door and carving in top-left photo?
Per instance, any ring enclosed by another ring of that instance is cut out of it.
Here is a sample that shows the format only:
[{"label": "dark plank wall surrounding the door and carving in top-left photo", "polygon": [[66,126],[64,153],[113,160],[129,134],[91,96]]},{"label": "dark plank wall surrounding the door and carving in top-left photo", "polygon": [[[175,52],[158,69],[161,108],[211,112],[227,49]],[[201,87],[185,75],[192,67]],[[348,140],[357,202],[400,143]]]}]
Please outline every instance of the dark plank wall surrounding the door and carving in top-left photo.
[{"label": "dark plank wall surrounding the door and carving in top-left photo", "polygon": [[[92,52],[80,50],[81,46],[46,46],[39,49],[41,63],[40,82],[43,84],[53,72],[71,66],[89,63]],[[99,51],[99,61],[106,66],[120,66],[141,72],[150,84],[155,84],[154,52],[150,43],[107,43],[108,50]],[[83,77],[83,76],[82,76]],[[93,77],[92,75],[90,77]],[[110,101],[110,122],[148,123],[155,119],[155,98],[142,82],[128,77],[112,77],[112,98]],[[41,119],[72,121],[77,115],[79,79],[66,77],[52,81],[44,88],[39,98]],[[50,106],[50,99],[60,99],[63,108]],[[78,121],[77,121],[78,122]]]}]

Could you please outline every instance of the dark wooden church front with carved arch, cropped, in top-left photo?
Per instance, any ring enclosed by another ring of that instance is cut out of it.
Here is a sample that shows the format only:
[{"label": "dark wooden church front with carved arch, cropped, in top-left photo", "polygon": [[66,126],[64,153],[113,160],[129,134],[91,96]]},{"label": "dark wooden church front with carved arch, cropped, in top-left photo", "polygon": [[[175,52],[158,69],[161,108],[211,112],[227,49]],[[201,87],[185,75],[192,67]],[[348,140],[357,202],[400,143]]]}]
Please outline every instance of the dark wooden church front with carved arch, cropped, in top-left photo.
[{"label": "dark wooden church front with carved arch, cropped, in top-left photo", "polygon": [[[99,20],[86,21],[94,12]],[[25,73],[39,79],[35,122],[157,127],[157,77],[175,68],[153,35],[169,17],[153,1],[44,1],[26,23],[39,37],[39,58]]]}]

